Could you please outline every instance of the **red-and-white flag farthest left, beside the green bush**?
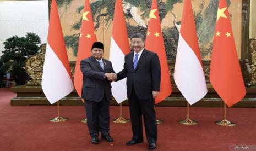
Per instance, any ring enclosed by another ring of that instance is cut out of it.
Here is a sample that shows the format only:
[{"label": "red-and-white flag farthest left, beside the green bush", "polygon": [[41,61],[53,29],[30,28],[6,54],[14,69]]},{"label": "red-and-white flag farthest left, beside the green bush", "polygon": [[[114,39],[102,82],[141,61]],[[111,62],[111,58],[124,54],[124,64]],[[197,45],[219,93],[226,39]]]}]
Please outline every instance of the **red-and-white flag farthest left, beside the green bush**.
[{"label": "red-and-white flag farthest left, beside the green bush", "polygon": [[51,16],[42,74],[42,90],[53,104],[74,90],[56,1],[52,1]]}]

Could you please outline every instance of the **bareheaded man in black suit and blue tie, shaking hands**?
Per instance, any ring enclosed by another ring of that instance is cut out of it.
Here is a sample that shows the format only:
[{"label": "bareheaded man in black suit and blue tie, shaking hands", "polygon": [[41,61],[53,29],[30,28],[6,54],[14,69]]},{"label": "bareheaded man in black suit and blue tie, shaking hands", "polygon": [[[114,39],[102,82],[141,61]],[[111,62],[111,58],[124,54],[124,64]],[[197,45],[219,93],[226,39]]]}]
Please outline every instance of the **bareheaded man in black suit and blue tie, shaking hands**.
[{"label": "bareheaded man in black suit and blue tie, shaking hands", "polygon": [[143,142],[141,117],[143,115],[149,150],[154,150],[157,141],[154,98],[160,91],[160,61],[156,53],[143,48],[145,43],[143,34],[133,34],[130,42],[134,51],[125,56],[124,68],[117,73],[117,80],[127,77],[127,97],[133,137],[126,144],[129,146]]}]

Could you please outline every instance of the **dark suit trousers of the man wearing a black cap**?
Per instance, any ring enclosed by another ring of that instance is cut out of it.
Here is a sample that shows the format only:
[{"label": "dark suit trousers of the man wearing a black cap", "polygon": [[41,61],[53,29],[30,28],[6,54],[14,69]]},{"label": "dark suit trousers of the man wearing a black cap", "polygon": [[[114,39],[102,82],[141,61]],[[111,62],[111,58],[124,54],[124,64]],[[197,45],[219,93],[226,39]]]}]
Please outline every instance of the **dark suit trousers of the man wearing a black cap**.
[{"label": "dark suit trousers of the man wearing a black cap", "polygon": [[110,104],[106,95],[100,102],[85,101],[87,126],[91,136],[107,135],[110,130]]}]

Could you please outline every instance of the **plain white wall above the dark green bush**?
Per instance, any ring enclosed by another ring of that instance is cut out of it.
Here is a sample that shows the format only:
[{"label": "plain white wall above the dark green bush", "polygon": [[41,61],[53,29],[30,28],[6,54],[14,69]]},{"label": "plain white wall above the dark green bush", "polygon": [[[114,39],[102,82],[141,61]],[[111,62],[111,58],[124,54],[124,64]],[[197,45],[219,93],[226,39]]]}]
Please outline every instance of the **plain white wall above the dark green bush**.
[{"label": "plain white wall above the dark green bush", "polygon": [[4,40],[15,35],[24,37],[27,32],[36,33],[41,43],[46,43],[48,0],[0,1],[0,56]]}]

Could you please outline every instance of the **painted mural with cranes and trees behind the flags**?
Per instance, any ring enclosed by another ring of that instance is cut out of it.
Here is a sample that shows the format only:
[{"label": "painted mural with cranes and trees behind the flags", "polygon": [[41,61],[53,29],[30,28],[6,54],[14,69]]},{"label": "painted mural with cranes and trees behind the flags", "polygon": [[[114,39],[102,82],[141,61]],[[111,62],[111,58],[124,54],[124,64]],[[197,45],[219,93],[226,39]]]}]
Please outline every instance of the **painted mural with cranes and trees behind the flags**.
[{"label": "painted mural with cranes and trees behind the flags", "polygon": [[[123,13],[128,36],[134,32],[145,34],[148,26],[151,0],[123,0]],[[182,24],[182,0],[157,1],[160,13],[162,33],[168,60],[175,60],[179,32],[175,24]],[[211,59],[213,33],[216,23],[218,0],[192,0],[194,19],[197,28],[201,57]],[[91,0],[92,16],[97,40],[105,45],[104,57],[108,58],[112,33],[112,21],[115,0]],[[242,1],[227,0],[228,10],[235,37],[238,57],[241,58]],[[58,1],[63,34],[68,50],[69,61],[75,61],[77,55],[80,25],[83,16],[84,0]]]}]

